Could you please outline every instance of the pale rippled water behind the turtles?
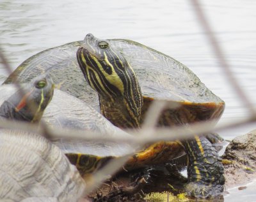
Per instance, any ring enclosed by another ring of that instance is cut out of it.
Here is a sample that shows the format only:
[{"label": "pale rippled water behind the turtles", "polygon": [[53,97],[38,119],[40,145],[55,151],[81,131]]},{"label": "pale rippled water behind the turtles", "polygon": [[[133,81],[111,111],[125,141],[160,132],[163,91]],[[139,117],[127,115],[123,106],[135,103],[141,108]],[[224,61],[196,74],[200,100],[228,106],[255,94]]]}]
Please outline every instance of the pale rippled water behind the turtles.
[{"label": "pale rippled water behind the turtles", "polygon": [[[207,0],[202,7],[239,84],[256,104],[256,1]],[[86,33],[135,40],[184,63],[225,100],[220,122],[250,113],[230,88],[189,1],[0,1],[0,44],[13,70],[36,52],[82,40]],[[6,76],[0,64],[0,82]],[[231,139],[254,128],[248,125],[221,135]]]}]

